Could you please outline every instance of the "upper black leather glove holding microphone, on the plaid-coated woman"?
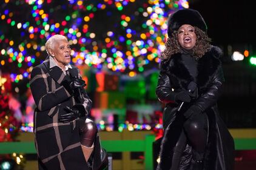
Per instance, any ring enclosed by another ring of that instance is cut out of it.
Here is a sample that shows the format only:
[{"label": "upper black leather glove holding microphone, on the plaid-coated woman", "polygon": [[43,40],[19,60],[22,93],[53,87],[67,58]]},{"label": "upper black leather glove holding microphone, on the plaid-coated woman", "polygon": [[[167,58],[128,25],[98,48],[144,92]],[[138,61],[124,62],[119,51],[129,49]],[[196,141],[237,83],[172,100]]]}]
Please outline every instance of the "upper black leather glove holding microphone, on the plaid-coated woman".
[{"label": "upper black leather glove holding microphone, on the plaid-coated woman", "polygon": [[72,80],[64,80],[62,82],[62,85],[64,86],[64,88],[66,88],[66,90],[69,92],[69,94],[73,95],[74,94],[74,90],[81,88],[81,87],[85,87],[86,86],[86,82],[82,79],[72,79]]}]

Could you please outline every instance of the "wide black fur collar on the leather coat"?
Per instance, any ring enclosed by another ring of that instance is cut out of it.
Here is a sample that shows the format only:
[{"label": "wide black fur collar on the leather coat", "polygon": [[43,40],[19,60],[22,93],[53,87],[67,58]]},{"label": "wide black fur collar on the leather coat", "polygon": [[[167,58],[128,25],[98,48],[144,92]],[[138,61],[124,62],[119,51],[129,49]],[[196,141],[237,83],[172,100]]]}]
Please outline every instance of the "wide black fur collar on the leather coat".
[{"label": "wide black fur collar on the leather coat", "polygon": [[178,84],[184,90],[187,89],[189,82],[194,81],[198,87],[207,87],[209,80],[212,79],[218,67],[220,67],[220,57],[222,51],[220,48],[212,46],[203,57],[198,59],[198,76],[196,80],[190,75],[189,70],[185,67],[183,60],[181,60],[181,54],[173,54],[168,61],[162,61],[160,64],[161,70],[166,70],[169,76],[175,77],[178,80]]}]

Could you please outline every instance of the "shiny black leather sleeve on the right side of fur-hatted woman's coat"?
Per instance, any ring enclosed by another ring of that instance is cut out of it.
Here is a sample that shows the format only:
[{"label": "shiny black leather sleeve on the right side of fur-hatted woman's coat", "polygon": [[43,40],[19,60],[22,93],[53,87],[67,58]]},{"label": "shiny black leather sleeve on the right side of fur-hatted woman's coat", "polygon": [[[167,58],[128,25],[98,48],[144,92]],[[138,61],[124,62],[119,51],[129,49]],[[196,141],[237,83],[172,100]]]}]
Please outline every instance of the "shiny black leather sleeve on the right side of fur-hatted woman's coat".
[{"label": "shiny black leather sleeve on the right side of fur-hatted woman's coat", "polygon": [[210,108],[211,106],[215,105],[223,91],[223,82],[223,70],[220,65],[214,77],[212,78],[211,85],[207,88],[206,92],[202,93],[198,97],[194,105],[197,105],[201,109],[201,111],[205,111],[207,110],[207,108]]}]

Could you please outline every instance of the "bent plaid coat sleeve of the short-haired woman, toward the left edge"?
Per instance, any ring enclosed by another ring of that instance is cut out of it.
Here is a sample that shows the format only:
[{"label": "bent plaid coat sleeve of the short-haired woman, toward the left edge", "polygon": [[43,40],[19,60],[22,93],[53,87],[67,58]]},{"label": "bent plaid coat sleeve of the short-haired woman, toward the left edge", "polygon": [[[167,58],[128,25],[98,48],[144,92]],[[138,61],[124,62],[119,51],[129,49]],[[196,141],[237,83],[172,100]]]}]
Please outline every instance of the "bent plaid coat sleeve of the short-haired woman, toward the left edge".
[{"label": "bent plaid coat sleeve of the short-haired woman, toward the left edge", "polygon": [[49,73],[40,67],[33,68],[31,73],[30,88],[39,111],[47,111],[71,96],[63,86],[55,91],[49,91],[49,76]]}]

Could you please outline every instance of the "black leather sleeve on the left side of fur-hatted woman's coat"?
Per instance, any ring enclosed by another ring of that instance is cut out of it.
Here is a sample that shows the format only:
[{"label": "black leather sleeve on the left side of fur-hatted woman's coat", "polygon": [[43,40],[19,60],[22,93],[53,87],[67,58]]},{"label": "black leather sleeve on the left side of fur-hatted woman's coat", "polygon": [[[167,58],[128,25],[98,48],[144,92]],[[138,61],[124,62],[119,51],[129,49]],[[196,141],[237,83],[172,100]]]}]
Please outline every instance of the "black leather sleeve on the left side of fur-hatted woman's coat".
[{"label": "black leather sleeve on the left side of fur-hatted woman's coat", "polygon": [[175,102],[175,94],[176,92],[172,91],[172,87],[170,84],[170,78],[166,74],[166,71],[161,70],[158,83],[157,83],[157,90],[156,94],[158,99],[163,103],[174,103]]}]

